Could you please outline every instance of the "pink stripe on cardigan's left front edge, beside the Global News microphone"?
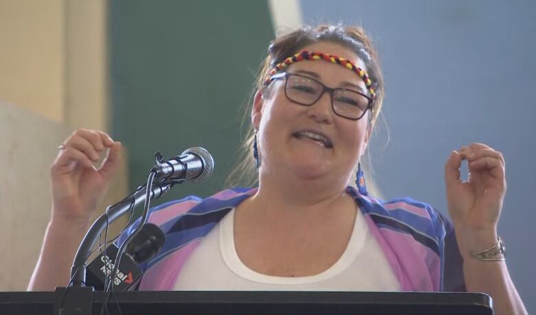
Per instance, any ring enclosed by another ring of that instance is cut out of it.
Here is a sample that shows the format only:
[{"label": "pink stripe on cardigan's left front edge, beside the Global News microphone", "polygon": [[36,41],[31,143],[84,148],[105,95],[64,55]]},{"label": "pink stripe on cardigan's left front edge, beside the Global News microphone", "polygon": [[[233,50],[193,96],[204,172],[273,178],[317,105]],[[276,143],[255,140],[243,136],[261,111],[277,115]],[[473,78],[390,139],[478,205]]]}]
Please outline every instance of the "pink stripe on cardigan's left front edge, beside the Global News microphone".
[{"label": "pink stripe on cardigan's left front edge, beside the Global News microphone", "polygon": [[142,278],[139,285],[140,291],[170,291],[175,288],[175,281],[181,271],[186,259],[201,243],[201,240],[195,240],[183,248],[166,256],[157,264],[151,266]]}]

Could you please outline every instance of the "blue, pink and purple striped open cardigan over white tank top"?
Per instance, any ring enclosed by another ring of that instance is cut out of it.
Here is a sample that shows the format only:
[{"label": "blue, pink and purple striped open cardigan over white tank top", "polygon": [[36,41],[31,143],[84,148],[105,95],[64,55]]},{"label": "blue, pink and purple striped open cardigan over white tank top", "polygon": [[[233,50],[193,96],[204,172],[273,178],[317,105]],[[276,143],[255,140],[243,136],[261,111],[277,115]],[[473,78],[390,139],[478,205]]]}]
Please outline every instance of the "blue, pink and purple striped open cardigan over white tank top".
[{"label": "blue, pink and purple striped open cardigan over white tank top", "polygon": [[[462,260],[451,223],[429,205],[410,198],[381,202],[353,187],[346,191],[364,214],[369,230],[386,255],[403,291],[463,291]],[[150,210],[166,242],[156,257],[140,265],[138,290],[173,290],[186,259],[203,237],[254,189],[227,189],[209,198],[194,196]],[[133,224],[122,237],[137,226]]]}]

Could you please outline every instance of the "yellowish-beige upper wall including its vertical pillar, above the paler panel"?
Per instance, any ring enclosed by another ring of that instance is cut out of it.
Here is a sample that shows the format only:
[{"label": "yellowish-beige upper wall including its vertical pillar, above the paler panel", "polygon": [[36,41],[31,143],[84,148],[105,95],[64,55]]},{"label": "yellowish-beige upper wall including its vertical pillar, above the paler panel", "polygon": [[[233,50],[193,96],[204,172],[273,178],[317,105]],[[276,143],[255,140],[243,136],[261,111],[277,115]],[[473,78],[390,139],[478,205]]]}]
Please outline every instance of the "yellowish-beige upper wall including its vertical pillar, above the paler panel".
[{"label": "yellowish-beige upper wall including its vertical pillar, above the paler panel", "polygon": [[0,0],[0,100],[108,129],[107,1]]}]

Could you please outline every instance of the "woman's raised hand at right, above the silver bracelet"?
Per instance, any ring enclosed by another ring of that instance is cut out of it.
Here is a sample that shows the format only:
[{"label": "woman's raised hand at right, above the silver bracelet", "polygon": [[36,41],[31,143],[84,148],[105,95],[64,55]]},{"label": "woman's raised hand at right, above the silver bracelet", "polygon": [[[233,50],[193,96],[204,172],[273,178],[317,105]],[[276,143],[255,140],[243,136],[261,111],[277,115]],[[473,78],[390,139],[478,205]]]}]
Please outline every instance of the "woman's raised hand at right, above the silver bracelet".
[{"label": "woman's raised hand at right, above the silver bracelet", "polygon": [[[460,165],[467,160],[469,178],[462,181]],[[482,143],[451,152],[445,165],[447,204],[462,255],[497,242],[497,224],[506,194],[504,158]],[[462,237],[462,240],[460,240]]]}]

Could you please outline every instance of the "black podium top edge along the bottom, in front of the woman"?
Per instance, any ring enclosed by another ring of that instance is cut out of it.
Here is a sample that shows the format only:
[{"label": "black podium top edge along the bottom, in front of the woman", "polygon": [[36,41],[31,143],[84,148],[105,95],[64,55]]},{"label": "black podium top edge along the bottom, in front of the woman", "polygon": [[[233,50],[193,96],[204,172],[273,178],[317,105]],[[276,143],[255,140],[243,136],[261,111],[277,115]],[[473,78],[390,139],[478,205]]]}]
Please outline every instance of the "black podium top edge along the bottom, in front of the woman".
[{"label": "black podium top edge along the bottom, in front of the woman", "polygon": [[[57,292],[0,292],[0,314],[54,314]],[[68,295],[68,294],[67,294]],[[104,292],[92,294],[98,314]],[[491,298],[458,292],[115,292],[122,314],[492,315]],[[115,300],[110,314],[118,314]]]}]

